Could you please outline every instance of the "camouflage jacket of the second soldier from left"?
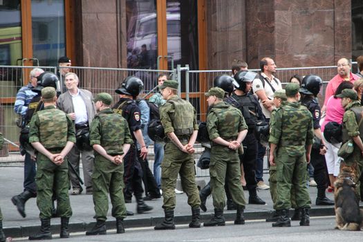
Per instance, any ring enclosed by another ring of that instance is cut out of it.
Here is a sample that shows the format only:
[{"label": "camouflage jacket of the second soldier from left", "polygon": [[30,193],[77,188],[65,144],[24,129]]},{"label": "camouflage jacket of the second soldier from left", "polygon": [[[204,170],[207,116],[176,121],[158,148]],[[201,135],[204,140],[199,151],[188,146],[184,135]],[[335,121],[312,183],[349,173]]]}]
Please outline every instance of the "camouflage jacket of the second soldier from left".
[{"label": "camouflage jacket of the second soldier from left", "polygon": [[101,145],[111,155],[122,155],[122,145],[133,144],[127,121],[111,109],[104,109],[95,115],[89,136],[91,145]]}]

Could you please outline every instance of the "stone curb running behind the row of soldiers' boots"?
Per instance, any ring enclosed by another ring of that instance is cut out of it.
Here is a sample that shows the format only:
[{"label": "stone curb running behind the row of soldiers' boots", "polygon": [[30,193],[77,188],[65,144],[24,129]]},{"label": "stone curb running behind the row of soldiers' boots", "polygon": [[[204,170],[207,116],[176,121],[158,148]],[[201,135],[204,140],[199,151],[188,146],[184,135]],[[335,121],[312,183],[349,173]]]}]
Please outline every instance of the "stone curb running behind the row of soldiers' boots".
[{"label": "stone curb running behind the row of soldiers' boots", "polygon": [[[202,221],[208,221],[212,217],[212,211],[206,212],[205,214],[201,214]],[[292,210],[290,210],[290,213]],[[256,219],[265,219],[267,218],[272,211],[251,211],[245,212],[244,216],[246,220],[256,220]],[[333,206],[326,206],[326,207],[314,207],[310,209],[310,216],[334,216],[335,210]],[[234,221],[236,216],[235,211],[226,211],[224,213],[225,221]],[[163,220],[163,216],[158,217],[150,217],[150,218],[127,218],[124,220],[124,226],[126,228],[131,227],[152,227],[158,223],[161,223]],[[191,219],[191,214],[188,215],[177,215],[175,216],[174,220],[176,225],[178,224],[185,224],[189,223]],[[53,234],[59,234],[60,230],[60,218],[55,218],[53,221],[57,221],[56,224],[51,225],[50,231]],[[80,223],[69,223],[68,229],[72,232],[86,232],[86,230],[91,230],[91,228],[95,225],[95,221],[93,222],[80,222]],[[109,229],[115,228],[115,221],[106,221],[106,227]],[[29,226],[19,226],[19,227],[5,227],[3,228],[3,232],[6,236],[10,236],[13,238],[18,237],[27,237],[30,234],[35,234],[39,231],[40,221],[37,225],[29,225]]]}]

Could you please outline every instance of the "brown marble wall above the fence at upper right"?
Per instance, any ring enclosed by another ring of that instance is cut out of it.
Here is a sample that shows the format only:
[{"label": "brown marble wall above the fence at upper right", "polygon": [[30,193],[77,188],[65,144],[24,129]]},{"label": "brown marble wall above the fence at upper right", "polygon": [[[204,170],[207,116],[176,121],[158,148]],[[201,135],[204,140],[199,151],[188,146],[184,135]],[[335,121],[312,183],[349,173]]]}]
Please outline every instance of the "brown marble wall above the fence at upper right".
[{"label": "brown marble wall above the fence at upper right", "polygon": [[[208,68],[230,68],[232,59],[245,59],[250,68],[259,68],[265,56],[274,58],[278,67],[329,66],[340,57],[351,57],[350,0],[211,2]],[[234,16],[242,23],[239,28],[233,28],[233,21],[214,21],[232,10],[245,13]],[[245,39],[228,38],[232,36]]]}]

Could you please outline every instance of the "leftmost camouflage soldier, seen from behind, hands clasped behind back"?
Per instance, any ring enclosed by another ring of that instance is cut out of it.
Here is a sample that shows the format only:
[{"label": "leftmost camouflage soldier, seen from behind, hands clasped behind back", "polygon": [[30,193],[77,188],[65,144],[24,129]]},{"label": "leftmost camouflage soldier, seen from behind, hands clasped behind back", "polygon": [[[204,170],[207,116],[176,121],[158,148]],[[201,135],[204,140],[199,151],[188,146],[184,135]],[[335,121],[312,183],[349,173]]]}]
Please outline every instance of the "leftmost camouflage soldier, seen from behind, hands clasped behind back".
[{"label": "leftmost camouflage soldier, seen from behind, hands clasped behind back", "polygon": [[30,240],[52,239],[50,218],[52,217],[53,187],[57,198],[57,213],[61,217],[61,238],[68,238],[68,222],[72,216],[68,196],[67,153],[75,142],[75,132],[70,118],[55,108],[57,93],[53,87],[41,90],[44,110],[32,116],[29,142],[37,149],[37,206],[41,228]]}]

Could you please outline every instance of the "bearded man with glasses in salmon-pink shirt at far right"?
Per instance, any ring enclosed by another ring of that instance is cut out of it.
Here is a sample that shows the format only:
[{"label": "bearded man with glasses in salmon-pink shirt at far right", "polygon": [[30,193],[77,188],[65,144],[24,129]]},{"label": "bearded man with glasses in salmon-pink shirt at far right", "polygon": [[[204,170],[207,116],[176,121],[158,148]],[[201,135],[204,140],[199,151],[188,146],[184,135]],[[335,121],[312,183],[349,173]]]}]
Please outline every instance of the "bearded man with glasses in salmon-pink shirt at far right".
[{"label": "bearded man with glasses in salmon-pink shirt at far right", "polygon": [[360,77],[357,75],[351,73],[352,64],[351,61],[347,58],[342,58],[338,60],[337,63],[337,71],[338,74],[333,77],[332,80],[329,81],[328,86],[326,86],[325,91],[325,100],[324,100],[324,106],[322,107],[322,112],[326,111],[326,103],[329,100],[329,97],[334,95],[335,91],[337,90],[337,87],[342,82],[355,82],[355,80],[358,80]]}]

